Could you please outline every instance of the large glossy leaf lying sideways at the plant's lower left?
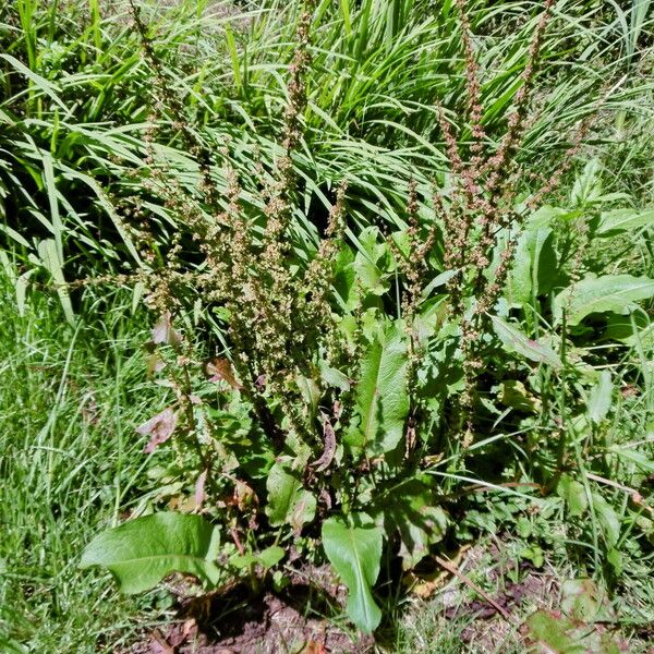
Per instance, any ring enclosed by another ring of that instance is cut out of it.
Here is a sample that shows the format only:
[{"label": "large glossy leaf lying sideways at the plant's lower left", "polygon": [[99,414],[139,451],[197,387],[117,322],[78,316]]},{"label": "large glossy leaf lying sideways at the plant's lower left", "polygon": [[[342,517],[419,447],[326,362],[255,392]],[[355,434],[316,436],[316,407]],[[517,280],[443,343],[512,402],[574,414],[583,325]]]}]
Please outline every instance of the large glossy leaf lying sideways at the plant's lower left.
[{"label": "large glossy leaf lying sideways at the plant's lower left", "polygon": [[108,569],[123,593],[147,591],[172,572],[193,574],[215,585],[219,531],[202,516],[154,513],[98,534],[80,566]]}]

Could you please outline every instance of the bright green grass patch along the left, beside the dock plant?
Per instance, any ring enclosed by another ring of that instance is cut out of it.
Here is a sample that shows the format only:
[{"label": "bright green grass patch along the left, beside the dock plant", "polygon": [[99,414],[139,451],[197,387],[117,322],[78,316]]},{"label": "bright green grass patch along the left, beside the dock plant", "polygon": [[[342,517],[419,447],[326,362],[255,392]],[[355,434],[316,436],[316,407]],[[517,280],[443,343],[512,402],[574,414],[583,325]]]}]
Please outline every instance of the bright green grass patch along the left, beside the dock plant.
[{"label": "bright green grass patch along the left, beside the dock plant", "polygon": [[76,565],[147,485],[143,331],[112,301],[76,329],[45,294],[20,315],[4,274],[0,304],[0,651],[95,652],[136,608]]}]

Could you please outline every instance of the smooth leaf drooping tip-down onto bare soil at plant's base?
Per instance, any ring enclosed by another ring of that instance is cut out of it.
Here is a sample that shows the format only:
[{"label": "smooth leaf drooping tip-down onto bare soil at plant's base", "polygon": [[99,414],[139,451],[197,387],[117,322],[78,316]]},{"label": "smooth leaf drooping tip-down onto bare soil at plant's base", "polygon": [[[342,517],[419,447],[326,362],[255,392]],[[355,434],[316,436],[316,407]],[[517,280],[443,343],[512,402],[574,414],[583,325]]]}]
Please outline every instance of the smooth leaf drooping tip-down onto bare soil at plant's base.
[{"label": "smooth leaf drooping tip-down onto bare soil at plant's base", "polygon": [[[360,518],[360,524],[370,522],[366,516]],[[372,633],[382,620],[372,593],[379,574],[382,541],[377,526],[353,526],[340,518],[329,518],[323,524],[325,554],[348,586],[348,615],[366,633]]]}]

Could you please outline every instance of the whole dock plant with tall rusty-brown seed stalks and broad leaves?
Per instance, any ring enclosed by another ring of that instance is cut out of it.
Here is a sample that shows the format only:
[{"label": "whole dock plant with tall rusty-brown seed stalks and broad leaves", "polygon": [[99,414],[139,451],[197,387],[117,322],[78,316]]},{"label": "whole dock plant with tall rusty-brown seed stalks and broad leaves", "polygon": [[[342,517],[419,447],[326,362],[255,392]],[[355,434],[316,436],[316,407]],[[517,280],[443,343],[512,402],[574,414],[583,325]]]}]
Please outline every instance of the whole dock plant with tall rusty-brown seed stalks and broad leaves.
[{"label": "whole dock plant with tall rusty-brown seed stalks and broad leaves", "polygon": [[[161,495],[180,510],[100,534],[83,565],[107,567],[128,592],[173,571],[210,588],[242,579],[261,592],[270,582],[283,585],[282,562],[324,552],[349,589],[350,618],[371,632],[382,620],[374,586],[383,555],[409,569],[446,536],[456,510],[445,499],[447,480],[468,479],[473,448],[520,432],[526,421],[535,434],[557,437],[557,456],[538,480],[545,493],[557,487],[569,465],[573,416],[565,408],[534,420],[531,389],[545,398],[545,380],[555,377],[572,397],[572,383],[583,382],[568,361],[574,335],[567,330],[594,312],[619,313],[651,298],[654,282],[582,278],[581,246],[602,227],[578,229],[543,205],[581,147],[586,122],[558,171],[525,183],[521,148],[552,5],[541,8],[504,135],[494,142],[458,2],[469,124],[458,133],[439,110],[447,183],[425,190],[409,181],[405,229],[385,233],[375,225],[352,229],[348,206],[356,198],[335,180],[326,226],[310,246],[296,229],[311,206],[300,202],[294,160],[310,111],[315,5],[307,2],[298,21],[277,156],[258,167],[256,197],[246,196],[232,166],[234,144],[211,152],[192,129],[133,9],[154,73],[152,130],[161,110],[173,117],[201,180],[197,187],[180,181],[160,154],[148,153],[147,168],[135,173],[142,195],[124,216],[144,267],[120,278],[136,283],[158,315],[148,365],[171,401],[138,432],[148,437],[147,452],[170,450]],[[150,132],[146,141],[153,138]],[[153,197],[181,226],[164,245],[152,234],[145,201]],[[513,317],[531,320],[534,334]],[[216,351],[207,355],[207,347]],[[507,352],[518,362],[505,363]],[[498,387],[506,411],[489,399]]]}]

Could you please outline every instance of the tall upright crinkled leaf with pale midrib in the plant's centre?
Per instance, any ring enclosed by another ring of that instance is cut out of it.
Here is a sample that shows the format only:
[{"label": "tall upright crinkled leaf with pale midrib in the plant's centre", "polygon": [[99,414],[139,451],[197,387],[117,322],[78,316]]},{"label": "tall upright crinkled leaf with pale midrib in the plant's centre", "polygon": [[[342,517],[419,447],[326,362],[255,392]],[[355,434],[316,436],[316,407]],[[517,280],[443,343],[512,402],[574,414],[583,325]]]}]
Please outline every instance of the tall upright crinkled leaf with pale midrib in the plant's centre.
[{"label": "tall upright crinkled leaf with pale midrib in the plant's centre", "polygon": [[355,386],[359,423],[347,438],[370,457],[391,451],[404,435],[409,414],[407,365],[407,343],[396,325],[378,334],[363,355]]}]

